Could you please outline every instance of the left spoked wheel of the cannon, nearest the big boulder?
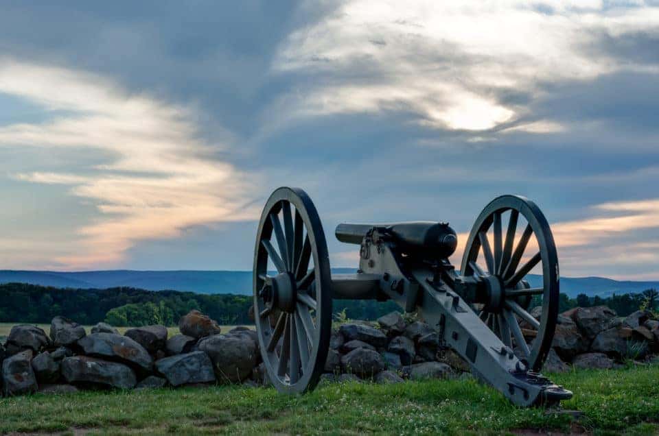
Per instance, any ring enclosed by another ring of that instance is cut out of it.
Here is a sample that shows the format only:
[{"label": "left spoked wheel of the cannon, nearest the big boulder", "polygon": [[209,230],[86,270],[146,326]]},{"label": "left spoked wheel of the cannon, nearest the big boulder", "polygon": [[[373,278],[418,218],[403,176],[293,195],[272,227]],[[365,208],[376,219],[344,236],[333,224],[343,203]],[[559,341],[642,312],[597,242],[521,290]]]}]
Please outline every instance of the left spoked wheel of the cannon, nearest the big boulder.
[{"label": "left spoked wheel of the cannon, nearest the big boulder", "polygon": [[330,287],[316,207],[301,189],[277,189],[259,221],[253,291],[261,355],[280,392],[310,391],[323,373],[332,328]]}]

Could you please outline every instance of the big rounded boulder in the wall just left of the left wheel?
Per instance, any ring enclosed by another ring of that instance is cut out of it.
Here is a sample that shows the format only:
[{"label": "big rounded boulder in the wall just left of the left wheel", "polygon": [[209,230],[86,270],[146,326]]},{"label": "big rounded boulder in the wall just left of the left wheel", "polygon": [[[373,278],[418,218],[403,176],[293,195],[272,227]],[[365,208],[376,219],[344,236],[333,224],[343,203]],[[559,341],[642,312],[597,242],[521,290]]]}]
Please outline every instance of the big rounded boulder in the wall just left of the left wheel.
[{"label": "big rounded boulder in the wall just left of the left wheel", "polygon": [[213,335],[199,341],[197,348],[210,356],[221,383],[242,382],[257,364],[256,345],[247,337]]}]

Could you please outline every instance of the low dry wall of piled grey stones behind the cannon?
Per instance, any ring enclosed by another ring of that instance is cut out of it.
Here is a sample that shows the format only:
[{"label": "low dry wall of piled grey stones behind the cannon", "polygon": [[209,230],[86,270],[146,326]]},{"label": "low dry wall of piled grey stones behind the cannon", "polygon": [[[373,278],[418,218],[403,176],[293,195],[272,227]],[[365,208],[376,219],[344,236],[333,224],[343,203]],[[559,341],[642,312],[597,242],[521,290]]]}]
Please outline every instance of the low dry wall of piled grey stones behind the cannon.
[{"label": "low dry wall of piled grey stones behind the cannon", "polygon": [[[181,334],[167,337],[164,326],[146,326],[119,335],[99,323],[86,335],[82,326],[63,317],[52,320],[49,334],[36,326],[14,326],[0,344],[2,393],[269,385],[255,331],[237,327],[222,332],[197,311],[181,318],[179,330]],[[532,341],[532,335],[527,339]],[[658,343],[659,322],[650,313],[620,319],[604,306],[576,308],[559,316],[544,370],[561,372],[570,364],[611,368],[630,357],[649,359],[659,351]],[[332,332],[323,380],[400,383],[464,372],[469,372],[467,363],[439,348],[435,330],[389,313],[378,322],[351,322]]]}]

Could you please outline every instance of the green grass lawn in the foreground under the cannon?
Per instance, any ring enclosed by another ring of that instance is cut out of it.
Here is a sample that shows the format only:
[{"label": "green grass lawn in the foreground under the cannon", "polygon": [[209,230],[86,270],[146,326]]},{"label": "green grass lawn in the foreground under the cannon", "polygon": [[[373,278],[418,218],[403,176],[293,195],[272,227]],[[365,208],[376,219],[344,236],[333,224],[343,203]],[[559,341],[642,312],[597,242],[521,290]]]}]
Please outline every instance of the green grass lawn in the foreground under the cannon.
[{"label": "green grass lawn in the foreground under the cannon", "polygon": [[274,389],[189,387],[4,398],[0,432],[659,433],[659,366],[579,371],[553,379],[575,391],[563,407],[582,411],[579,420],[542,409],[517,409],[500,393],[467,379],[329,384],[296,397]]}]

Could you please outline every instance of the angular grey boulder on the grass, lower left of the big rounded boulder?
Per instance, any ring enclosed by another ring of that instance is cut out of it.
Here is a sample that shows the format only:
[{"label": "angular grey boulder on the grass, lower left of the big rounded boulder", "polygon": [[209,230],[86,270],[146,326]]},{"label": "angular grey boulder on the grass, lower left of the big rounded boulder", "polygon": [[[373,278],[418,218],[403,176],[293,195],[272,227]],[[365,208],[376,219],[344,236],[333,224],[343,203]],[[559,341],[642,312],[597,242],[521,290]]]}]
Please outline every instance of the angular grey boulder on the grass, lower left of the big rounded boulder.
[{"label": "angular grey boulder on the grass, lower left of the big rounded boulder", "polygon": [[165,357],[156,361],[156,369],[172,386],[215,381],[213,363],[203,351]]}]

